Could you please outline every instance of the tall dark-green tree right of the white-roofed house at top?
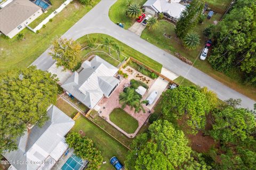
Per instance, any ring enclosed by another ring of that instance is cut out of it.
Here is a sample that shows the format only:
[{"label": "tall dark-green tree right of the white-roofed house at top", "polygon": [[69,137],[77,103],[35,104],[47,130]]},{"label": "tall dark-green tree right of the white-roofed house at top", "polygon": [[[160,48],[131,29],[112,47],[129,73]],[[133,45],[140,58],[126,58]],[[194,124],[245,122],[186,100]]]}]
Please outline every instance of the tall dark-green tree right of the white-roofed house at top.
[{"label": "tall dark-green tree right of the white-roofed house at top", "polygon": [[198,23],[204,8],[204,1],[193,0],[181,15],[176,24],[175,33],[179,38],[184,38]]}]

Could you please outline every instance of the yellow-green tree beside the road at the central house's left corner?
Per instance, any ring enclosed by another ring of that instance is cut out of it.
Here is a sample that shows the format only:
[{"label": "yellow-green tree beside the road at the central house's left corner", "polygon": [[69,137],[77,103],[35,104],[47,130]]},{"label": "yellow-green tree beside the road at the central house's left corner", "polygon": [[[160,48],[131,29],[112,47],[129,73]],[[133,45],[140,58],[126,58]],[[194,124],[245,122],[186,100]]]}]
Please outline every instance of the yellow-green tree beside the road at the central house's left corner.
[{"label": "yellow-green tree beside the road at the central house's left corner", "polygon": [[72,39],[55,39],[50,49],[56,65],[63,66],[64,70],[73,70],[81,62],[81,46]]}]

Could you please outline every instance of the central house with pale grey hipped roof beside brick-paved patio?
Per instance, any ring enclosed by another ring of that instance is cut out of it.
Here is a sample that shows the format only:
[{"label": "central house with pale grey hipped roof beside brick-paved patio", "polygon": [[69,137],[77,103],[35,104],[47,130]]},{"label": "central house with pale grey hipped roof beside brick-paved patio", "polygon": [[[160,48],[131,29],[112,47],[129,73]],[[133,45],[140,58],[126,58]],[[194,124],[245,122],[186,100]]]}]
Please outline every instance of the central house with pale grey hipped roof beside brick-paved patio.
[{"label": "central house with pale grey hipped roof beside brick-paved patio", "polygon": [[61,87],[68,95],[92,109],[103,96],[109,97],[118,86],[119,80],[114,77],[118,69],[99,56],[85,61],[82,68],[79,73],[75,71]]}]

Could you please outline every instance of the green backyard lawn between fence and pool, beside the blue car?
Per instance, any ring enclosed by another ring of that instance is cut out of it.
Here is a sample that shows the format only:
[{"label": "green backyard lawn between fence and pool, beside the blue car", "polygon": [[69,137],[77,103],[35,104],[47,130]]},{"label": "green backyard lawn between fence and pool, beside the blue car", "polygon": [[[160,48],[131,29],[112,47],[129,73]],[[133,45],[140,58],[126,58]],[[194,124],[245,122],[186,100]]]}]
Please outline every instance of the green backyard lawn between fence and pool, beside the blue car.
[{"label": "green backyard lawn between fence and pool, beside the blue car", "polygon": [[87,137],[91,138],[101,150],[103,159],[107,163],[103,164],[100,169],[114,170],[114,166],[109,163],[109,159],[113,156],[116,156],[124,165],[125,156],[128,150],[122,146],[121,143],[111,138],[106,132],[83,116],[77,118],[71,131],[79,132],[79,130],[82,130]]}]

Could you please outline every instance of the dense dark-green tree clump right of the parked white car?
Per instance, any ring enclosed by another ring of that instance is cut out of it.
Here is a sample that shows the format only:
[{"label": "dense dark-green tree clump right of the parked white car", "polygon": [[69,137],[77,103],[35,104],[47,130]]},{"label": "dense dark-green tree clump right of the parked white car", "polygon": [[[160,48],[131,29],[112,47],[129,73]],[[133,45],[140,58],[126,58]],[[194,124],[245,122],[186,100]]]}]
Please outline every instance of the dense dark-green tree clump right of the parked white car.
[{"label": "dense dark-green tree clump right of the parked white car", "polygon": [[[215,70],[236,70],[245,83],[256,85],[256,1],[238,0],[213,31],[209,62]],[[233,73],[234,74],[234,73]]]}]

